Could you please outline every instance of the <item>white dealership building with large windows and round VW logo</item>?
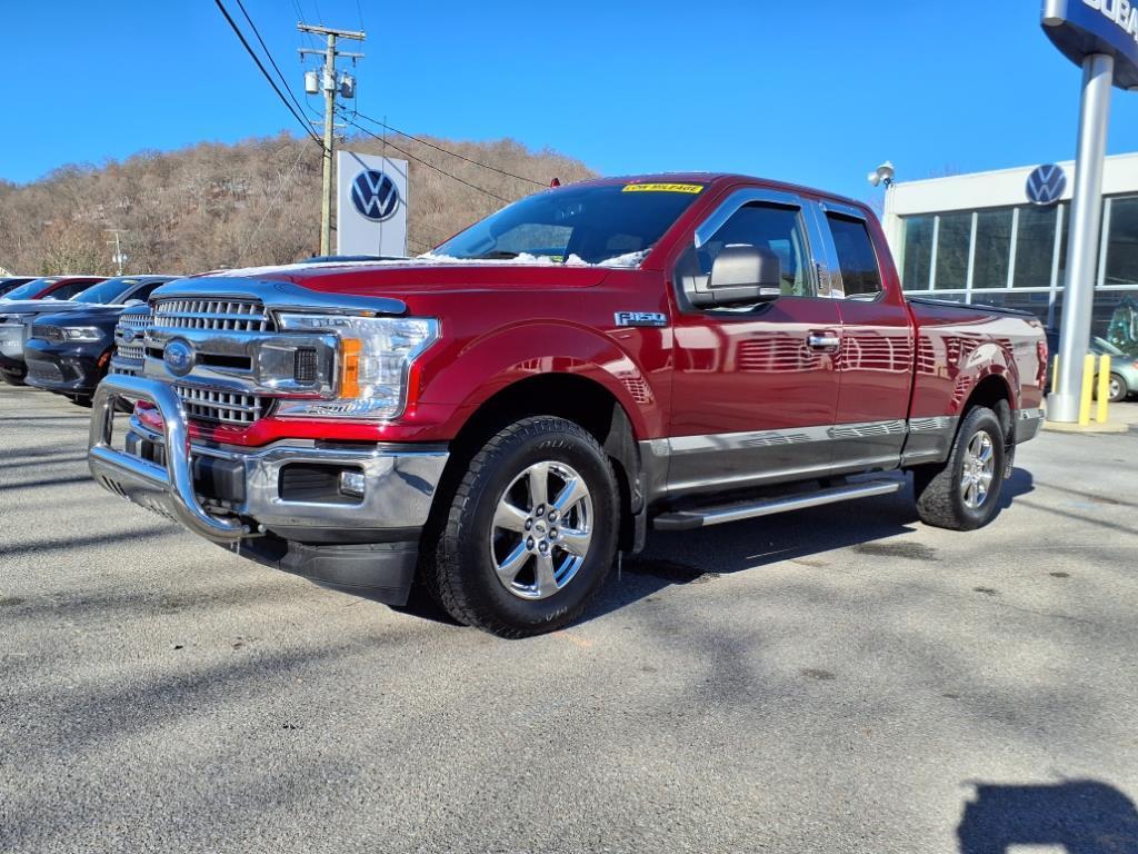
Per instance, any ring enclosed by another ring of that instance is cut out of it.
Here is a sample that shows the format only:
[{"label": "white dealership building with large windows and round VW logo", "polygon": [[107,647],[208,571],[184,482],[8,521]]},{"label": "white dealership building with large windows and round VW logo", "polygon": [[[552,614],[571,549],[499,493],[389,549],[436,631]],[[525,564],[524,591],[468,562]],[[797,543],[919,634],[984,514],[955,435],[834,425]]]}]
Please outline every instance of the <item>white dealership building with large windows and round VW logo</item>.
[{"label": "white dealership building with large windows and round VW logo", "polygon": [[[1058,327],[1074,164],[1057,165],[893,184],[883,224],[906,293]],[[1138,354],[1138,154],[1107,157],[1103,195],[1091,335]]]}]

